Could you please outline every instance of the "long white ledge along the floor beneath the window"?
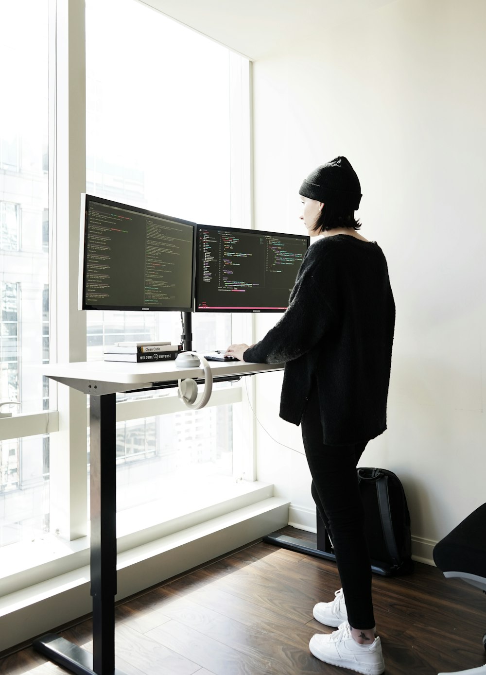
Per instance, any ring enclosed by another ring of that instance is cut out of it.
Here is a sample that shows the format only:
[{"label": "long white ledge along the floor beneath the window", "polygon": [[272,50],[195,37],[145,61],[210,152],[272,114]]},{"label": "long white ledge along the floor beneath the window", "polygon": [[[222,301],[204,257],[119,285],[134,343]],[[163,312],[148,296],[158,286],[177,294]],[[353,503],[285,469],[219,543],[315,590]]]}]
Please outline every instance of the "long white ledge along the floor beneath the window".
[{"label": "long white ledge along the floor beneath the window", "polygon": [[[269,497],[117,556],[117,600],[144,591],[288,523],[286,499]],[[5,595],[0,602],[0,651],[31,641],[92,610],[84,566]]]}]

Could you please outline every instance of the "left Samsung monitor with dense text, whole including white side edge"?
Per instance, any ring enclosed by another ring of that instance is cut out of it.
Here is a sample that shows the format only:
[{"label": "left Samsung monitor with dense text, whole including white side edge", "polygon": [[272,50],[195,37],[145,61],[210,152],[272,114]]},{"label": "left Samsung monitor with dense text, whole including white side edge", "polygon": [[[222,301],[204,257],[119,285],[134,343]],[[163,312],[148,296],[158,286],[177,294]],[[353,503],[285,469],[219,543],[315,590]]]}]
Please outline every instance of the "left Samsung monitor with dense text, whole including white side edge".
[{"label": "left Samsung monitor with dense text, whole including white side edge", "polygon": [[82,194],[80,309],[192,311],[196,224]]}]

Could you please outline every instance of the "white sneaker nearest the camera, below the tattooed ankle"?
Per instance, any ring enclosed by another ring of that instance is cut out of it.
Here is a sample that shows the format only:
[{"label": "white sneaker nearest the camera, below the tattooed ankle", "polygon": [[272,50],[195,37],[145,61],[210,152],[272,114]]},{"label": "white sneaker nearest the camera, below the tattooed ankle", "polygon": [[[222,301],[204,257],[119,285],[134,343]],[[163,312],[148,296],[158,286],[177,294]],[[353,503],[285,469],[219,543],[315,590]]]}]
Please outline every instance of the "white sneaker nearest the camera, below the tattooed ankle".
[{"label": "white sneaker nearest the camera, below the tattooed ankle", "polygon": [[375,637],[371,645],[358,645],[347,621],[329,635],[313,635],[309,649],[326,664],[349,668],[364,675],[381,675],[385,670],[379,637]]}]

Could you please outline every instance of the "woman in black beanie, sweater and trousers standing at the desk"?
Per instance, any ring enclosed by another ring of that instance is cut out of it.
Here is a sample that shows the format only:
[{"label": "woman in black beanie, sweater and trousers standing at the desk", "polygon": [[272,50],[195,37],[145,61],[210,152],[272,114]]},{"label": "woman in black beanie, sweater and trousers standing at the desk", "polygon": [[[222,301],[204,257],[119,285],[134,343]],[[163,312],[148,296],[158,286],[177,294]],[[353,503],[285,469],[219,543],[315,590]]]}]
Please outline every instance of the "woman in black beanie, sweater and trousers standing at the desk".
[{"label": "woman in black beanie, sweater and trousers standing at the desk", "polygon": [[280,416],[301,425],[311,492],[333,543],[342,589],[313,614],[331,634],[309,647],[322,661],[379,675],[371,564],[356,466],[385,431],[395,303],[387,263],[354,218],[361,188],[346,157],[321,165],[300,186],[300,218],[319,236],[307,250],[281,319],[260,342],[226,355],[285,363]]}]

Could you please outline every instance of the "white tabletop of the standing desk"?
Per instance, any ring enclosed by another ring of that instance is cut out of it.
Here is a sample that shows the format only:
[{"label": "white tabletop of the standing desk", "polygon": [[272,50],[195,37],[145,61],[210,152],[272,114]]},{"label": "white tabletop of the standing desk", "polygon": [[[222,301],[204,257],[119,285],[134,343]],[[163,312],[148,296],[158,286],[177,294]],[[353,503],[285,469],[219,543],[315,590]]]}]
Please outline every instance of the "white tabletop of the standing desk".
[{"label": "white tabletop of the standing desk", "polygon": [[[246,363],[243,361],[211,361],[213,377],[254,375],[281,371],[283,363]],[[186,377],[204,377],[202,368],[177,368],[173,361],[130,363],[124,361],[79,361],[42,366],[43,375],[66,384],[84,394],[102,395],[155,387]]]}]

